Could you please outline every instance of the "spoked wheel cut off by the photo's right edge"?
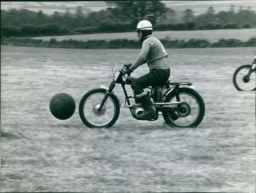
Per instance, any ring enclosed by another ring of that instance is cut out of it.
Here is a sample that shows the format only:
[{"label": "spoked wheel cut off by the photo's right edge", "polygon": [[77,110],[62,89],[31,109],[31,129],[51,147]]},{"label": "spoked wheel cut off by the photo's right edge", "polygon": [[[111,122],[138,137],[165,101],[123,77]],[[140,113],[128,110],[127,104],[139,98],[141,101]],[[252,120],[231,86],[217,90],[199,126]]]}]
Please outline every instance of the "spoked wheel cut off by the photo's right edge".
[{"label": "spoked wheel cut off by the photo's right edge", "polygon": [[255,90],[256,84],[256,74],[255,70],[251,73],[250,77],[248,76],[249,71],[251,70],[251,65],[239,66],[234,75],[233,83],[237,90],[239,91],[249,91]]}]

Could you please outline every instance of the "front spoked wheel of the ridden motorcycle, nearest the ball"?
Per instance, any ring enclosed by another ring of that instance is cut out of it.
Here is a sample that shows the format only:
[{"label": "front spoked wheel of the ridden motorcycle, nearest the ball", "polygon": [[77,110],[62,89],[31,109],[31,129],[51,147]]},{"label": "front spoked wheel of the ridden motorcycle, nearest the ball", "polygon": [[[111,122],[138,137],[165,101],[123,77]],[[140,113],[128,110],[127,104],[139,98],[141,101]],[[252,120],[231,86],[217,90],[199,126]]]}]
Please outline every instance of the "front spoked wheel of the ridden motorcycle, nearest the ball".
[{"label": "front spoked wheel of the ridden motorcycle, nearest the ball", "polygon": [[118,99],[110,94],[106,103],[99,111],[99,107],[106,89],[92,89],[81,99],[79,115],[87,127],[111,127],[117,120],[120,112]]}]

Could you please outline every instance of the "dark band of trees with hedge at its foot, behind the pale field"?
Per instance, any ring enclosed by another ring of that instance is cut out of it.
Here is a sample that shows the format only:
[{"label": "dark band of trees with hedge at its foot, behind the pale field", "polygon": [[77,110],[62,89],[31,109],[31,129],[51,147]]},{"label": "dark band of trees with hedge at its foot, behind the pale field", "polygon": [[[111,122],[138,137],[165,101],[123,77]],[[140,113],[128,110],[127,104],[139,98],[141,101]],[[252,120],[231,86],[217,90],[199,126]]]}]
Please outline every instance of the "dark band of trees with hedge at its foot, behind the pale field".
[{"label": "dark band of trees with hedge at its foot, behind the pale field", "polygon": [[256,13],[251,7],[240,6],[235,11],[235,6],[231,5],[228,12],[215,13],[211,6],[198,16],[186,9],[180,16],[161,1],[106,3],[110,6],[106,10],[88,14],[83,13],[81,6],[74,14],[68,9],[52,15],[41,10],[1,10],[1,38],[131,32],[142,19],[149,20],[155,31],[255,28],[256,23]]}]

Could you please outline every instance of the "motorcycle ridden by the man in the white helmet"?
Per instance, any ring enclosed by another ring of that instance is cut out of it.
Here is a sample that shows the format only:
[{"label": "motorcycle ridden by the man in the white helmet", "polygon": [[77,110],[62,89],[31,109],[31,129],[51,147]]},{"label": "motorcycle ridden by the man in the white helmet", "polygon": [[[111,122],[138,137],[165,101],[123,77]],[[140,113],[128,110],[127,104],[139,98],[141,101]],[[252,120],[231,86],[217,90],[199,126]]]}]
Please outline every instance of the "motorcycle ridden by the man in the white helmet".
[{"label": "motorcycle ridden by the man in the white helmet", "polygon": [[[121,62],[116,62],[121,63]],[[114,65],[115,65],[114,64]],[[121,63],[124,65],[123,63]],[[137,120],[155,121],[162,115],[169,126],[196,127],[204,118],[205,105],[195,86],[190,82],[165,81],[155,87],[148,87],[147,94],[155,109],[155,114],[146,118],[137,116],[144,109],[136,96],[128,96],[125,85],[131,85],[136,78],[123,75],[125,66],[113,72],[113,81],[109,87],[92,89],[84,94],[79,103],[79,116],[87,127],[111,127],[118,119],[121,102],[115,91],[116,84],[121,84],[124,91],[124,106]],[[134,99],[134,102],[133,102]],[[161,114],[160,114],[161,113]]]}]

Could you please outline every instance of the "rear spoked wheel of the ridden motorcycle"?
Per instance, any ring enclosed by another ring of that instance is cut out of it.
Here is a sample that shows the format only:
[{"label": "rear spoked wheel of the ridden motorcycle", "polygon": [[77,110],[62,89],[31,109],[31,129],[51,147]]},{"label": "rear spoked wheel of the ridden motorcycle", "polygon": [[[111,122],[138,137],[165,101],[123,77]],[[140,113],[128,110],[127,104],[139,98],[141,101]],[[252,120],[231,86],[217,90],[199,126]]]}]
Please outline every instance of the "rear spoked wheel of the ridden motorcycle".
[{"label": "rear spoked wheel of the ridden motorcycle", "polygon": [[[163,112],[163,118],[169,126],[196,127],[204,118],[203,98],[193,89],[179,88],[180,100],[183,103],[174,105],[172,110]],[[175,102],[176,95],[171,93],[164,102]]]}]

